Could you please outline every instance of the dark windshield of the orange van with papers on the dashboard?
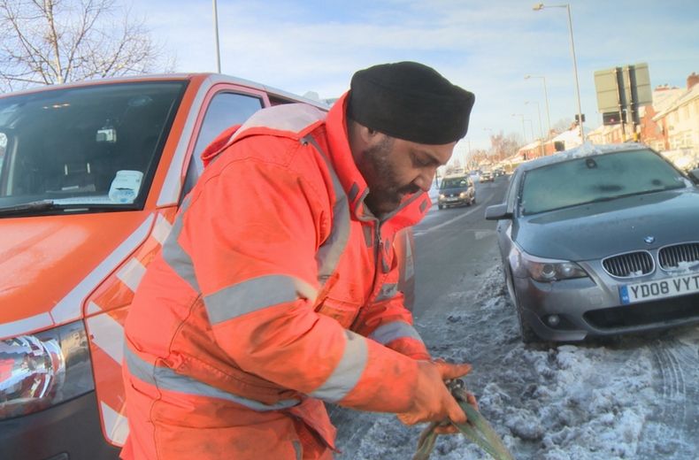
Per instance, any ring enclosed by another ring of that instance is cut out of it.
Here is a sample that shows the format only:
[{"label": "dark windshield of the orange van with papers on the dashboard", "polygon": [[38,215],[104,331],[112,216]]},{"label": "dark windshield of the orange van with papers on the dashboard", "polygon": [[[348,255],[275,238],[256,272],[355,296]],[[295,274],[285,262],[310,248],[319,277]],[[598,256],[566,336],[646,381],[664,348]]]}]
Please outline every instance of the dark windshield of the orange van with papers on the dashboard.
[{"label": "dark windshield of the orange van with papers on the dashboard", "polygon": [[185,85],[111,83],[0,97],[0,209],[142,208]]}]

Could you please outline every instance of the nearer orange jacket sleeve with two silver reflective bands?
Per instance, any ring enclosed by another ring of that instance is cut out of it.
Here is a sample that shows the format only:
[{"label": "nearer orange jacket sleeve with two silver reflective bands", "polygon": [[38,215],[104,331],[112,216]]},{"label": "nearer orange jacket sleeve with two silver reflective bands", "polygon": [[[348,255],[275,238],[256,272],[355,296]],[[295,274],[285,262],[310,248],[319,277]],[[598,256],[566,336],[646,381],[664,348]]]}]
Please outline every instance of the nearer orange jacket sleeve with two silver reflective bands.
[{"label": "nearer orange jacket sleeve with two silver reflective bands", "polygon": [[417,364],[313,310],[332,218],[314,150],[272,136],[228,149],[193,191],[179,238],[219,347],[242,370],[327,402],[410,409]]}]

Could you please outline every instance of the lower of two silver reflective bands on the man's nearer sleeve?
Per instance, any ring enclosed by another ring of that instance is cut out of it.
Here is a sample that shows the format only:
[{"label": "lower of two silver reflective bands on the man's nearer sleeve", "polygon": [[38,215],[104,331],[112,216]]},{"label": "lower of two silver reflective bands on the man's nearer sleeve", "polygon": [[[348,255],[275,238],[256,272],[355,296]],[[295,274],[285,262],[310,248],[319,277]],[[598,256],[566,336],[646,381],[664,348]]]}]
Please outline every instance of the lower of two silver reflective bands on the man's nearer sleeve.
[{"label": "lower of two silver reflective bands on the man's nearer sleeve", "polygon": [[345,333],[345,349],[340,363],[335,366],[333,373],[309,396],[322,399],[328,403],[341,401],[357,386],[364,372],[368,359],[369,347],[366,339],[351,331]]}]

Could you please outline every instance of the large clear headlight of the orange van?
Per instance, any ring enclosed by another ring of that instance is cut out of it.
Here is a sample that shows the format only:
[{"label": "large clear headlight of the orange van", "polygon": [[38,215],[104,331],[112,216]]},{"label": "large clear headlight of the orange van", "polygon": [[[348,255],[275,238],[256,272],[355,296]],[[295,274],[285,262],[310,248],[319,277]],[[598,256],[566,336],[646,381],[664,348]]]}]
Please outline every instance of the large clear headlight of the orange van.
[{"label": "large clear headlight of the orange van", "polygon": [[0,340],[0,420],[95,389],[82,322]]}]

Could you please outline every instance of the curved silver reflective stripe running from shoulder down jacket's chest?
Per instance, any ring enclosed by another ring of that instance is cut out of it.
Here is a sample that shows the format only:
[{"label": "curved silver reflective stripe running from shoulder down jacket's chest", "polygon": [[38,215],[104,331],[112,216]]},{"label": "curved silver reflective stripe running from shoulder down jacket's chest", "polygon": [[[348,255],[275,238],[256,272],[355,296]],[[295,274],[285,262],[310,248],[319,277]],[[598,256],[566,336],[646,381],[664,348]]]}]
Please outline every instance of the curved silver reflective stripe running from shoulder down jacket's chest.
[{"label": "curved silver reflective stripe running from shoulder down jacket's chest", "polygon": [[325,281],[333,274],[337,266],[342,251],[347,246],[347,241],[350,239],[350,202],[342,188],[342,183],[334,171],[333,165],[327,158],[323,149],[320,149],[318,142],[313,139],[313,136],[307,135],[301,140],[303,143],[310,143],[318,150],[327,166],[327,171],[333,179],[333,189],[335,203],[333,205],[333,224],[330,229],[330,235],[326,241],[320,245],[316,253],[316,262],[318,263],[318,280],[322,286]]}]

